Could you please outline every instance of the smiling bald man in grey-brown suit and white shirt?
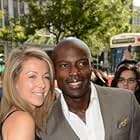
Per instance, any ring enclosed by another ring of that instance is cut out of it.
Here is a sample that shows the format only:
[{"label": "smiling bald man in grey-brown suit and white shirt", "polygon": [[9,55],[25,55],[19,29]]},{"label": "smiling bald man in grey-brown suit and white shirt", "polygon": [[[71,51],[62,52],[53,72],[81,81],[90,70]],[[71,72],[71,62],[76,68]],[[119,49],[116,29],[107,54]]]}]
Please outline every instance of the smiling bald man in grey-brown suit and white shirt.
[{"label": "smiling bald man in grey-brown suit and white shirt", "polygon": [[83,41],[62,40],[52,60],[62,93],[43,140],[140,140],[140,107],[133,94],[90,81],[91,54]]}]

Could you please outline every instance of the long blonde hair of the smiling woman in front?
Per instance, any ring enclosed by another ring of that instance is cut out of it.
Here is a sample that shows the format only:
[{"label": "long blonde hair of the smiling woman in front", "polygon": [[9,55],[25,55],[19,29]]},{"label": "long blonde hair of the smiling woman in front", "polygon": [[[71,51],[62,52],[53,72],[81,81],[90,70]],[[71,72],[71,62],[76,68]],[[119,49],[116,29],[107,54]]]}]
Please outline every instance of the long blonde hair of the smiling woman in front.
[{"label": "long blonde hair of the smiling woman in front", "polygon": [[[32,111],[28,103],[17,94],[15,87],[15,81],[22,70],[23,63],[31,57],[44,60],[48,64],[50,72],[50,90],[44,100],[43,105],[37,107],[35,111]],[[44,123],[47,123],[48,116],[50,114],[55,99],[54,68],[52,61],[46,54],[46,52],[37,47],[13,49],[9,54],[5,65],[3,77],[3,92],[4,94],[2,96],[0,106],[1,122],[4,120],[6,114],[14,106],[17,110],[29,112],[35,120],[37,131],[43,131],[43,125]]]}]

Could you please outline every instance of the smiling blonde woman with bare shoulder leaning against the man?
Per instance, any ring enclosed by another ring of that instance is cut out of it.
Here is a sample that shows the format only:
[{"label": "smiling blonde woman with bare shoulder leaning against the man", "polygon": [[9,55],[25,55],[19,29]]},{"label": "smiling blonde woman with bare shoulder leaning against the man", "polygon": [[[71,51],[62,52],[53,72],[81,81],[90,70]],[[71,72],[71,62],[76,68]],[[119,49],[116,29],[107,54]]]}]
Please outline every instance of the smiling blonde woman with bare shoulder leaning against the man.
[{"label": "smiling blonde woman with bare shoulder leaning against the man", "polygon": [[2,139],[40,140],[55,99],[50,58],[39,48],[13,49],[3,78]]}]

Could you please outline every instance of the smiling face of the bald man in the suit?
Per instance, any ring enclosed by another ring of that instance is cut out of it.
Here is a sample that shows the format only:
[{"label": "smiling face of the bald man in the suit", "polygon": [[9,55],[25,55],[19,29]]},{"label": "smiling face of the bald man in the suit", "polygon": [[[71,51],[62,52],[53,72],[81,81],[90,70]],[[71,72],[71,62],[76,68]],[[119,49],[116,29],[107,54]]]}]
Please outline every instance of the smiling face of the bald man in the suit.
[{"label": "smiling face of the bald man in the suit", "polygon": [[67,44],[56,52],[54,64],[58,87],[66,98],[78,99],[89,93],[91,65],[87,52]]}]

